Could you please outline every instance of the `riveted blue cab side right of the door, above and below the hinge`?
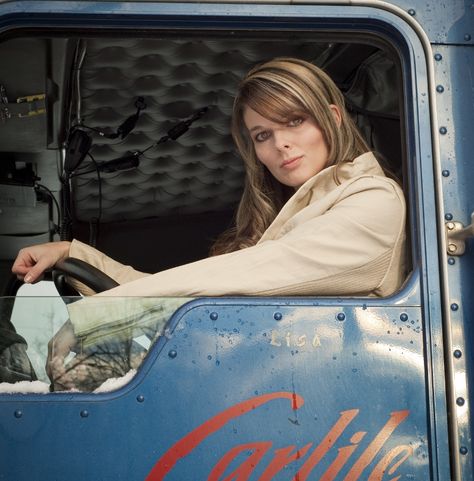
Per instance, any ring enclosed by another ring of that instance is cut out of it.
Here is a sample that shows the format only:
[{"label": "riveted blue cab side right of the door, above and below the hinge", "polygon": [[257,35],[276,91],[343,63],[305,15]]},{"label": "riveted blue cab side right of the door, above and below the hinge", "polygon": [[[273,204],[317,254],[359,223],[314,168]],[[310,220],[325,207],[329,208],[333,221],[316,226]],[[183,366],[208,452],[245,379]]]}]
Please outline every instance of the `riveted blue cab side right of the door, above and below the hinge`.
[{"label": "riveted blue cab side right of the door, above and below the hinge", "polygon": [[[472,9],[471,9],[472,10]],[[450,176],[442,179],[444,211],[452,215],[452,220],[467,225],[474,211],[474,170],[472,152],[474,138],[474,47],[458,45],[451,47],[437,45],[434,51],[442,56],[435,63],[437,80],[445,86],[445,91],[437,96],[439,125],[446,127],[446,135],[440,135],[441,167],[450,171]],[[465,94],[463,94],[465,92]],[[474,464],[472,459],[471,437],[474,429],[470,415],[470,402],[474,395],[472,369],[474,368],[473,315],[474,299],[472,281],[474,255],[472,239],[467,242],[466,253],[456,262],[448,263],[448,292],[446,300],[451,307],[447,331],[452,336],[452,346],[448,351],[452,361],[454,379],[452,399],[463,398],[463,405],[456,403],[456,427],[463,479],[472,479]],[[453,259],[452,257],[450,259]],[[448,261],[450,260],[448,259]],[[461,355],[455,356],[458,350]],[[457,380],[457,381],[456,381]],[[465,452],[465,454],[462,454]],[[470,478],[471,477],[471,478]]]}]

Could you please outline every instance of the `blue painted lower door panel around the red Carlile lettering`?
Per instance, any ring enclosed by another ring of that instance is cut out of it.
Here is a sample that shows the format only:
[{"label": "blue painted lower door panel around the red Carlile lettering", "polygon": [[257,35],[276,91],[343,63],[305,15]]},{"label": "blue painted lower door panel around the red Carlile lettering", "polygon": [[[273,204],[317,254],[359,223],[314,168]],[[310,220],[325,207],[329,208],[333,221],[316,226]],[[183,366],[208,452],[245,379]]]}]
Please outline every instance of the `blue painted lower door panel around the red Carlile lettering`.
[{"label": "blue painted lower door panel around the red Carlile lettering", "polygon": [[[167,479],[207,479],[231,448],[270,441],[271,449],[252,477],[257,479],[276,450],[313,443],[313,451],[348,410],[359,412],[314,468],[313,477],[328,469],[337,448],[366,431],[341,470],[342,479],[390,414],[408,410],[361,479],[400,445],[414,454],[397,474],[427,479],[430,448],[420,307],[334,304],[196,301],[176,316],[169,338],[159,341],[137,378],[122,391],[12,396],[0,403],[0,448],[8,459],[0,479],[29,479],[34,466],[35,479],[65,479],[67,473],[67,479],[141,480],[175,442],[209,418],[274,392],[296,393],[304,405],[294,410],[286,399],[273,400],[232,420],[180,460]],[[280,320],[275,320],[275,312],[281,313]],[[218,319],[213,320],[212,313]],[[291,479],[308,457],[309,452],[274,479]]]}]

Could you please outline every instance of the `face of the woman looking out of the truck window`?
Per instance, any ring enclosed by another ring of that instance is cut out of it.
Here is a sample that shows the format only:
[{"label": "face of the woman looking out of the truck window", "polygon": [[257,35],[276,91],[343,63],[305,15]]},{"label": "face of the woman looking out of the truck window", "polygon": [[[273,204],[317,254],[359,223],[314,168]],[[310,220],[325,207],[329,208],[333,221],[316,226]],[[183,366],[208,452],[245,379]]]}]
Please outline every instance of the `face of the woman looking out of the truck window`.
[{"label": "face of the woman looking out of the truck window", "polygon": [[298,188],[326,167],[328,147],[308,115],[277,123],[246,107],[243,119],[258,159],[282,184]]}]

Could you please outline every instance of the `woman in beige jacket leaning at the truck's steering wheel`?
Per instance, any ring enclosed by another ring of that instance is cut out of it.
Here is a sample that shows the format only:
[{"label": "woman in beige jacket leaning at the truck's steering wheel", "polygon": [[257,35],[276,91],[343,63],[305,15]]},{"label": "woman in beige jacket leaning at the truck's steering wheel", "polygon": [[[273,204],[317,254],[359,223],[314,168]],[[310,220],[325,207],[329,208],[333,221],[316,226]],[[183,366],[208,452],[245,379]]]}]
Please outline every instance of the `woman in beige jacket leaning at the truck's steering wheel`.
[{"label": "woman in beige jacket leaning at the truck's steering wheel", "polygon": [[[35,282],[77,257],[121,284],[100,296],[387,296],[400,287],[403,193],[323,71],[289,58],[251,70],[237,92],[232,133],[246,184],[236,226],[212,257],[147,275],[78,241],[59,242],[23,249],[13,272]],[[81,304],[70,308],[73,322],[84,317]]]}]

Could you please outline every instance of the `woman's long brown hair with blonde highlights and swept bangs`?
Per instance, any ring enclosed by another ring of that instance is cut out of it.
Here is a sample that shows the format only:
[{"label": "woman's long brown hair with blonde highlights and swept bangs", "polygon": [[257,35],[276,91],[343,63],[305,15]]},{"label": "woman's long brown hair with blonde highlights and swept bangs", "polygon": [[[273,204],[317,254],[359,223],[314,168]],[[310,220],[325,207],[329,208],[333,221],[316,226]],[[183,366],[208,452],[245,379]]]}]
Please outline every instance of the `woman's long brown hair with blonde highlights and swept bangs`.
[{"label": "woman's long brown hair with blonde highlights and swept bangs", "polygon": [[[332,105],[340,112],[340,122]],[[307,114],[322,131],[327,167],[370,150],[346,111],[341,91],[320,68],[295,58],[254,67],[239,85],[232,112],[232,137],[245,164],[244,192],[235,227],[220,236],[211,255],[255,245],[291,195],[258,160],[243,121],[245,108],[274,122],[285,122],[295,112]]]}]

